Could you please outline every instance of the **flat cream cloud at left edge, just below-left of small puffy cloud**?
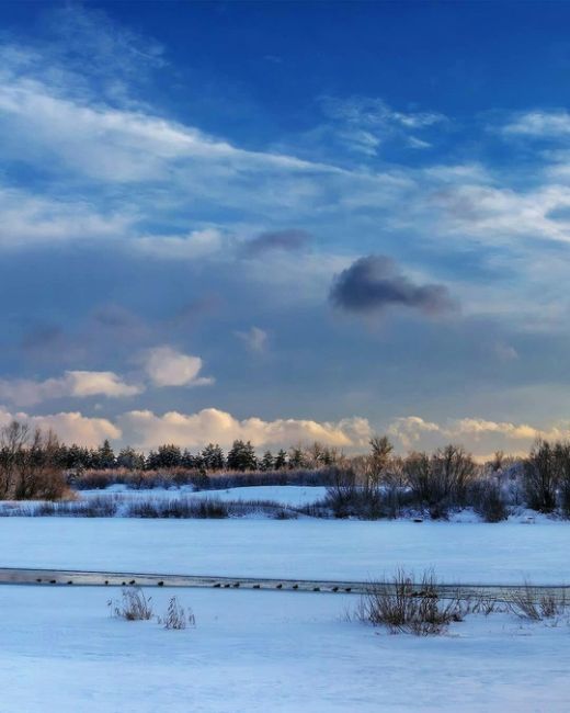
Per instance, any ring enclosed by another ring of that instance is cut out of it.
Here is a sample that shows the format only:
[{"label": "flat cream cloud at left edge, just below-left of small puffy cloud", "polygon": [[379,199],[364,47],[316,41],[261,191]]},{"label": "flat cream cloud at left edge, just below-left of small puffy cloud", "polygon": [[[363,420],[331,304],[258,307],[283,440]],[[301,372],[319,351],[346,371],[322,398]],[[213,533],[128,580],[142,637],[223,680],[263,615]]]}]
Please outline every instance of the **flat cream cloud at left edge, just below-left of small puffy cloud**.
[{"label": "flat cream cloud at left edge, just below-left of small puffy cloud", "polygon": [[0,398],[16,406],[33,406],[53,398],[106,396],[117,398],[140,394],[144,386],[126,384],[114,372],[67,371],[59,378],[43,382],[0,380]]}]

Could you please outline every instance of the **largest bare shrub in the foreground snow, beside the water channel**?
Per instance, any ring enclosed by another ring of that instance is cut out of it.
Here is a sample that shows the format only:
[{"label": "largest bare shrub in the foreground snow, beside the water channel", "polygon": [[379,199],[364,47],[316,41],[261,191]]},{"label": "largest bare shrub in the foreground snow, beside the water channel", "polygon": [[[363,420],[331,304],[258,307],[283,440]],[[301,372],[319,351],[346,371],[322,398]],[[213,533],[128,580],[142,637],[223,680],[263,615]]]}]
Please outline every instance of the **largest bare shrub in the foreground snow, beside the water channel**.
[{"label": "largest bare shrub in the foreground snow, beside the water channel", "polygon": [[452,622],[461,621],[466,610],[457,598],[442,601],[432,573],[420,585],[403,570],[397,571],[391,587],[372,584],[362,596],[356,615],[374,626],[418,636],[441,634]]}]

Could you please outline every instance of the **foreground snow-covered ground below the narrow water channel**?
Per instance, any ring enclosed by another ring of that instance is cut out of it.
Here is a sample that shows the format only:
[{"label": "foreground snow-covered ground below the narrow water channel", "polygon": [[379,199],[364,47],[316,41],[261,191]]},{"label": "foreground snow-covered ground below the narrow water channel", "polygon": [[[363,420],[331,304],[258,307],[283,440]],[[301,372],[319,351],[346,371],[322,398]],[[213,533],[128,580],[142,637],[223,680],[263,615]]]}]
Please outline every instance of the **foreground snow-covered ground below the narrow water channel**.
[{"label": "foreground snow-covered ground below the narrow water channel", "polygon": [[[27,521],[30,522],[30,521]],[[171,592],[152,591],[161,613]],[[0,588],[2,711],[568,711],[570,630],[506,614],[390,635],[355,597],[184,590],[196,627],[111,619],[118,590]]]}]

